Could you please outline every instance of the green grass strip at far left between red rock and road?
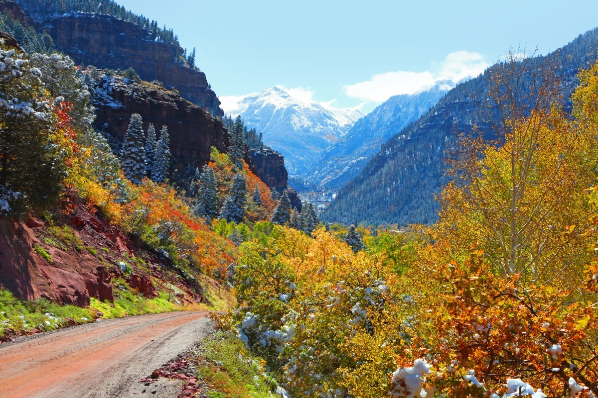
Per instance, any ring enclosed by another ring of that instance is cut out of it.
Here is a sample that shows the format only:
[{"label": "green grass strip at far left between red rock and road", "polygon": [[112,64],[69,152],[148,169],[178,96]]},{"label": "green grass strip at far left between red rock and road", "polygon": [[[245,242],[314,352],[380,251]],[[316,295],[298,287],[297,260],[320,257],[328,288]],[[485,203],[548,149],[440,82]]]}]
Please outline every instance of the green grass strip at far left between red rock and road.
[{"label": "green grass strip at far left between red rock and road", "polygon": [[87,308],[60,306],[45,299],[23,301],[0,289],[0,336],[28,334],[33,329],[51,331],[93,321],[93,313]]}]

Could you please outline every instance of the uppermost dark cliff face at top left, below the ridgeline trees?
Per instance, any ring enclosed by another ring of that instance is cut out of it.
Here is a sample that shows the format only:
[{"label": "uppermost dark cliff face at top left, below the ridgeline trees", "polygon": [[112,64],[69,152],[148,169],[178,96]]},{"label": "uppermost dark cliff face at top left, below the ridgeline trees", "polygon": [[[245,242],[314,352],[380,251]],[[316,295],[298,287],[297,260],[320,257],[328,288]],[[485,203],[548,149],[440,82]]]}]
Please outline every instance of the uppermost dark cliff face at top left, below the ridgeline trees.
[{"label": "uppermost dark cliff face at top left, below the ridgeline trees", "polygon": [[123,70],[132,67],[141,79],[173,87],[195,104],[212,107],[218,101],[205,73],[182,63],[178,45],[153,41],[149,32],[135,23],[77,13],[51,18],[47,24],[56,48],[78,64]]}]

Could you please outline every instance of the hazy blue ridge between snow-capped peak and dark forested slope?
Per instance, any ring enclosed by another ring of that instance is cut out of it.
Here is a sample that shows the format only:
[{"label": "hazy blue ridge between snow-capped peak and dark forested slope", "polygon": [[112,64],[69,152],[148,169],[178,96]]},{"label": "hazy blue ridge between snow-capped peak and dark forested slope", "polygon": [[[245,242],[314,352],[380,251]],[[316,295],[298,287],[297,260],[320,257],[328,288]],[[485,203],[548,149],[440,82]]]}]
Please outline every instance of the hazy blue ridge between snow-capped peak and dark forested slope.
[{"label": "hazy blue ridge between snow-capped peak and dark forested slope", "polygon": [[361,172],[383,143],[416,121],[452,87],[453,82],[441,81],[417,94],[390,97],[355,122],[341,140],[329,147],[306,180],[331,189],[345,186]]}]

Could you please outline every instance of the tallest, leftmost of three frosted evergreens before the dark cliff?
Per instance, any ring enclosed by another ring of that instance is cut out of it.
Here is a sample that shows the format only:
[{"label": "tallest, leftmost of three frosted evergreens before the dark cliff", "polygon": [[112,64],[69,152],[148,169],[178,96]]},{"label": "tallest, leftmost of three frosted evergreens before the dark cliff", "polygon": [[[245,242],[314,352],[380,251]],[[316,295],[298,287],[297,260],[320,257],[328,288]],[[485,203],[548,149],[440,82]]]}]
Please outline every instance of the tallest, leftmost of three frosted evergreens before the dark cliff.
[{"label": "tallest, leftmost of three frosted evergreens before the dark cliff", "polygon": [[144,129],[141,115],[133,113],[120,151],[121,168],[132,183],[141,184],[145,175]]}]

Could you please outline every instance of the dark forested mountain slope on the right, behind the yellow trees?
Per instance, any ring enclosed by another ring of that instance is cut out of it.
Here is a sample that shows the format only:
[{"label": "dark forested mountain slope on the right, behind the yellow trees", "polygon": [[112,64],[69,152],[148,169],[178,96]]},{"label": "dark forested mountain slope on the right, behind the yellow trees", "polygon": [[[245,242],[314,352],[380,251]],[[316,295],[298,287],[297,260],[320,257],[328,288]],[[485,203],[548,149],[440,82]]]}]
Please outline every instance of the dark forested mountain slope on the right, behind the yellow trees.
[{"label": "dark forested mountain slope on the right, behind the yellow trees", "polygon": [[[556,62],[567,97],[577,85],[576,73],[596,60],[597,51],[598,29],[593,29],[545,56]],[[545,57],[536,58],[537,62]],[[473,98],[486,97],[487,76],[488,70],[457,85],[417,122],[392,137],[340,190],[321,218],[368,224],[434,222],[440,208],[434,194],[445,183],[445,151],[459,132],[471,130],[478,112]]]}]

